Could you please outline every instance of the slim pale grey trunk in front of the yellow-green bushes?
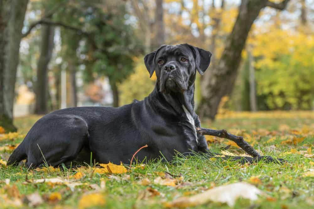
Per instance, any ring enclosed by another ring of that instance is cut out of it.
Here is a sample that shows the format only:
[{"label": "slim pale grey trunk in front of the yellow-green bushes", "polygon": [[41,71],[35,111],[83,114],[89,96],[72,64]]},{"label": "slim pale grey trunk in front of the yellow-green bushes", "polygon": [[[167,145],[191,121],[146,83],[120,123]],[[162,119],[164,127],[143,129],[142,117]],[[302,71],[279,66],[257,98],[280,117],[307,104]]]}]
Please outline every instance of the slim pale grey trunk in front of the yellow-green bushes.
[{"label": "slim pale grey trunk in front of the yellow-green bushes", "polygon": [[252,55],[252,48],[251,46],[248,47],[247,50],[247,58],[249,61],[249,71],[250,71],[250,106],[251,111],[256,112],[257,111],[257,102],[256,102],[256,84],[255,84],[255,70],[254,70],[254,61],[253,61],[253,55]]}]

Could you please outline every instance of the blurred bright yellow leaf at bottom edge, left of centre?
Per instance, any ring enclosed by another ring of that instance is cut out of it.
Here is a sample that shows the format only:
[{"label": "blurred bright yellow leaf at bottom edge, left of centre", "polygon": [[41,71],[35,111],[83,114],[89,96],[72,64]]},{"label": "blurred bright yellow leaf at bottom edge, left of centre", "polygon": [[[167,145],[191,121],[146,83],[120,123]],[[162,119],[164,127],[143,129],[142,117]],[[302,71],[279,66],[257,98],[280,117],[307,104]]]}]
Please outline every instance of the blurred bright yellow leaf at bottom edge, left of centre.
[{"label": "blurred bright yellow leaf at bottom edge, left of centre", "polygon": [[78,203],[79,209],[85,209],[93,206],[103,206],[106,204],[104,196],[100,193],[91,193],[83,195]]}]

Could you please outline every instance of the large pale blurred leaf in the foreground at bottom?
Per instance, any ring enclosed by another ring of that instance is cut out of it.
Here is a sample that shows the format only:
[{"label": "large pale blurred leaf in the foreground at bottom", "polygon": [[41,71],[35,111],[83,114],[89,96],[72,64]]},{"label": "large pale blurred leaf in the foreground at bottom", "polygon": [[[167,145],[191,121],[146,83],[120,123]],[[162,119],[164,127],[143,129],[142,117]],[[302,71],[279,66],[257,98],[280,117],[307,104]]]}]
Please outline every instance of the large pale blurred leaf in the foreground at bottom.
[{"label": "large pale blurred leaf in the foreground at bottom", "polygon": [[236,199],[239,197],[249,200],[257,200],[258,195],[263,192],[255,186],[245,182],[239,182],[229,185],[214,187],[213,189],[204,191],[203,193],[191,196],[180,197],[170,203],[166,203],[166,207],[189,207],[207,203],[208,201],[227,203],[229,206],[234,206]]}]

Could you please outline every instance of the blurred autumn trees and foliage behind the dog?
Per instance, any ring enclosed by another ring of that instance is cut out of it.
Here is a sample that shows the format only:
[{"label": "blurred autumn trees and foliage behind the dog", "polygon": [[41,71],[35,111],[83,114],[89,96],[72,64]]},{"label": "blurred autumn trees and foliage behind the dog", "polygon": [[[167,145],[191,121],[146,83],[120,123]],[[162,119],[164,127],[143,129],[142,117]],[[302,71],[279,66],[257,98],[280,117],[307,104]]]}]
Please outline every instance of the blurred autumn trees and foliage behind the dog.
[{"label": "blurred autumn trees and foliage behind the dog", "polygon": [[196,81],[203,121],[314,109],[313,0],[0,0],[0,126],[77,106],[118,107],[154,88],[162,44],[212,52]]}]

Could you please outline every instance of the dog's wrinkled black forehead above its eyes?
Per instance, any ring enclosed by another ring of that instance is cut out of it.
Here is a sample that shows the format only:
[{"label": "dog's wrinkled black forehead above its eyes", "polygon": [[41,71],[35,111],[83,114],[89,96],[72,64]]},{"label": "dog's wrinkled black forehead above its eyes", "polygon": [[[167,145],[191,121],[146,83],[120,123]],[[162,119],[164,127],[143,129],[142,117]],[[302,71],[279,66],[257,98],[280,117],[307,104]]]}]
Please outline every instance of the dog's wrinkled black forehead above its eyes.
[{"label": "dog's wrinkled black forehead above its eyes", "polygon": [[183,45],[166,45],[157,53],[156,58],[166,58],[171,56],[183,56],[192,59],[193,53],[191,49]]}]

